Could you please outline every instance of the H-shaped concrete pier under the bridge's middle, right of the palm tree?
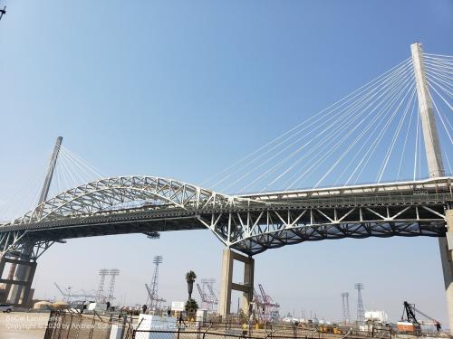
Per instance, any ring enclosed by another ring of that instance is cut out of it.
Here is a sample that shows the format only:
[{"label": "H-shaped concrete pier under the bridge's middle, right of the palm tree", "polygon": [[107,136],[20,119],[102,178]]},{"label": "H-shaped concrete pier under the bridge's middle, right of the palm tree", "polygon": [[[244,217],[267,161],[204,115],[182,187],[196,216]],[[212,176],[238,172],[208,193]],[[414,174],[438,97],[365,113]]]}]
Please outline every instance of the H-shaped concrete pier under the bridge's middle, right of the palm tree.
[{"label": "H-shaped concrete pier under the bridge's middle, right of the palm tree", "polygon": [[[244,263],[244,276],[242,283],[233,282],[234,261]],[[246,257],[230,249],[223,250],[222,275],[218,313],[226,318],[231,314],[231,291],[243,292],[241,308],[245,315],[249,315],[249,306],[254,297],[255,259]]]}]

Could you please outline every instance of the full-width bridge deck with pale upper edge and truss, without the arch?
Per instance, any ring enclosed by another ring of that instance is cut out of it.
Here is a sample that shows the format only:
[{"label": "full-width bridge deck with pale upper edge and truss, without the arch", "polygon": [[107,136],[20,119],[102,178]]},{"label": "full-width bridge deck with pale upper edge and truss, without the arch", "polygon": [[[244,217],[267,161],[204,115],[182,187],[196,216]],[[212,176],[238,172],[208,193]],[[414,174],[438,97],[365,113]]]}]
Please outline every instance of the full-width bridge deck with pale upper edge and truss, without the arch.
[{"label": "full-width bridge deck with pale upper edge and truss, without the arch", "polygon": [[[305,240],[445,236],[451,177],[293,192],[222,195],[181,204],[142,203],[97,212],[49,213],[43,221],[0,226],[0,246],[23,237],[58,241],[111,234],[210,229],[247,254]],[[213,194],[215,196],[215,193]],[[226,197],[226,198],[225,198]],[[10,236],[8,236],[10,234]],[[12,234],[12,235],[11,235]],[[8,238],[9,237],[9,238]]]}]

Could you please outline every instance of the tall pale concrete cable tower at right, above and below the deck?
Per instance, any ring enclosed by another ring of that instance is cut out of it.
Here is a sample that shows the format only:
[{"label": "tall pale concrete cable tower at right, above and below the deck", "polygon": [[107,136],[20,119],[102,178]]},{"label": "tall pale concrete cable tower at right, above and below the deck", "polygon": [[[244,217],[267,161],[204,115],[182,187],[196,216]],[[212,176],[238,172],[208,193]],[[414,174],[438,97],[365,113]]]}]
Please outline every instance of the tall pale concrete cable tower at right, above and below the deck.
[{"label": "tall pale concrete cable tower at right, above and below the deck", "polygon": [[[410,51],[412,52],[412,64],[417,84],[419,116],[423,127],[429,177],[436,178],[443,176],[445,172],[442,163],[442,154],[440,152],[438,128],[436,127],[432,99],[429,95],[428,81],[426,79],[423,47],[420,42],[415,42],[410,45]],[[439,238],[439,250],[447,294],[449,331],[450,336],[453,336],[453,263],[451,261],[453,250],[453,210],[451,206],[447,206],[446,217],[447,233],[446,237]]]}]

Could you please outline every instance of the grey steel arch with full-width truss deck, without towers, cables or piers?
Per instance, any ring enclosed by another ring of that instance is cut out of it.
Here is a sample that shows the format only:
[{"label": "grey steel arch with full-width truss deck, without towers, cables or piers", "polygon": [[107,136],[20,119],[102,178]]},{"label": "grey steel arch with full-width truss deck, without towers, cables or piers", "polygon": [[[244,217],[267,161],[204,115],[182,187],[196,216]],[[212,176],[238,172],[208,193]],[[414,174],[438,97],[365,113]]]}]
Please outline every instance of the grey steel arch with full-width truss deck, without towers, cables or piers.
[{"label": "grey steel arch with full-width truss deck, without towers, cables or piers", "polygon": [[310,240],[446,234],[453,177],[292,192],[228,195],[155,176],[118,176],[74,187],[0,226],[0,251],[112,234],[212,231],[253,256]]}]

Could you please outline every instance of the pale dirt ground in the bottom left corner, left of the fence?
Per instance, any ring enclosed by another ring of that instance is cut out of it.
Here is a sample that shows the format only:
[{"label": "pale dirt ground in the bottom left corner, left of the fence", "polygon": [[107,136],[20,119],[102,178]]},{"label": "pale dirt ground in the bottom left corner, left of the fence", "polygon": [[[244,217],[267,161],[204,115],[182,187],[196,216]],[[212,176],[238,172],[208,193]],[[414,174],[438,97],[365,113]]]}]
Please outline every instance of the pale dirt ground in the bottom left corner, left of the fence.
[{"label": "pale dirt ground in the bottom left corner, left of the fence", "polygon": [[43,339],[48,313],[0,313],[0,339]]}]

